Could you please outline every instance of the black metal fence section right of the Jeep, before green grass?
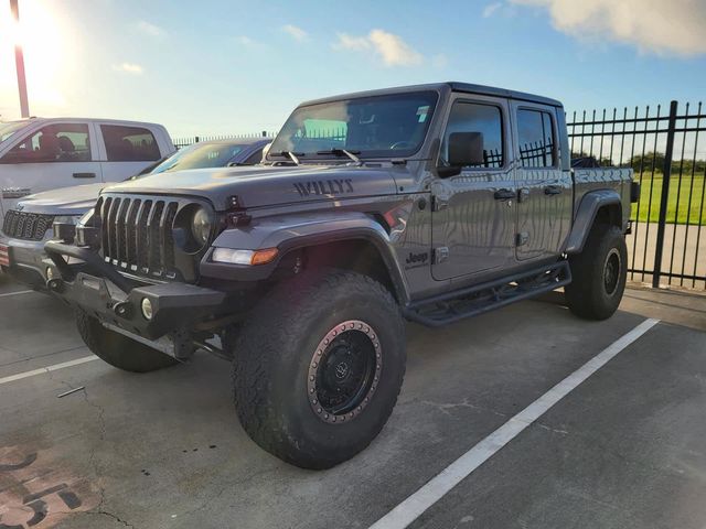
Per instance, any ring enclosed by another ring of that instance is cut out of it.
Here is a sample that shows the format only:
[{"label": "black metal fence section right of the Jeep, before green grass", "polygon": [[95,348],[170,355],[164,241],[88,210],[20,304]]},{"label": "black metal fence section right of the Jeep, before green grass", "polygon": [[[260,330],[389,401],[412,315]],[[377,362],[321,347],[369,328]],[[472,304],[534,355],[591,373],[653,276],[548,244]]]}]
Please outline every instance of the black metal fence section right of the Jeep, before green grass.
[{"label": "black metal fence section right of the Jeep, before green grass", "polygon": [[628,237],[633,281],[706,290],[704,120],[700,102],[677,101],[567,116],[573,158],[631,166],[641,184]]}]

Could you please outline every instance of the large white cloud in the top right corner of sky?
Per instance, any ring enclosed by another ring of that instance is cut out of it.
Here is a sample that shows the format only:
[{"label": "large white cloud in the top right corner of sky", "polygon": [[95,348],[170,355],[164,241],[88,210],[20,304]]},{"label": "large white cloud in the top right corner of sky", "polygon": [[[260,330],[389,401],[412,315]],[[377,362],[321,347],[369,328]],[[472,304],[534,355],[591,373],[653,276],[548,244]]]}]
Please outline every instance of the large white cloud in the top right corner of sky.
[{"label": "large white cloud in the top right corner of sky", "polygon": [[510,0],[546,8],[554,26],[578,39],[610,39],[660,55],[706,53],[703,0]]}]

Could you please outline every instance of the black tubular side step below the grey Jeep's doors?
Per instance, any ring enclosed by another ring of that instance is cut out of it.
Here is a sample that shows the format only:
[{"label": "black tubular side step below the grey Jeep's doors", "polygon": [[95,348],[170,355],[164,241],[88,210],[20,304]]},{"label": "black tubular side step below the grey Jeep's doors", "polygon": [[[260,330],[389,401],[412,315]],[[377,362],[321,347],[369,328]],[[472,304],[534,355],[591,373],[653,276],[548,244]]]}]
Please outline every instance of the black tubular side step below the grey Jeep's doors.
[{"label": "black tubular side step below the grey Jeep's doors", "polygon": [[542,267],[517,276],[481,283],[410,303],[403,314],[407,320],[440,327],[469,316],[500,309],[515,301],[550,292],[571,282],[568,261]]}]

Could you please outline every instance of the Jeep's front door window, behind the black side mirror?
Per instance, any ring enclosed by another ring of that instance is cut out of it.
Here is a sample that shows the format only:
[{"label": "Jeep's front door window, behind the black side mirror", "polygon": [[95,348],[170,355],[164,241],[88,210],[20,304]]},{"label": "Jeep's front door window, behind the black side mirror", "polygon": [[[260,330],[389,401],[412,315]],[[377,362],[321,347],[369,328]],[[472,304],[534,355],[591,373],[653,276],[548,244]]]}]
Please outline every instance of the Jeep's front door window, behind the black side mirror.
[{"label": "Jeep's front door window, behind the black side mirror", "polygon": [[441,143],[440,162],[448,165],[449,137],[453,132],[477,132],[483,147],[483,162],[471,168],[499,169],[504,163],[503,125],[500,107],[475,102],[456,101]]}]

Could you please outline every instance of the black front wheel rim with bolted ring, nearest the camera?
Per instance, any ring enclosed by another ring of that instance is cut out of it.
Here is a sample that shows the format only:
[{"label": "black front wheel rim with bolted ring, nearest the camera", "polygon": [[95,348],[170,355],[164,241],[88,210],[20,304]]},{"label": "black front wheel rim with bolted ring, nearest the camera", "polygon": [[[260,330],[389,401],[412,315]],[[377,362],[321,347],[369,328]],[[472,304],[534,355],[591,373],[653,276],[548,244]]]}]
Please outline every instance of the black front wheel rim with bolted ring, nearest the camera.
[{"label": "black front wheel rim with bolted ring, nearest the camera", "polygon": [[307,390],[317,417],[328,423],[351,421],[377,389],[382,350],[371,325],[350,320],[331,328],[309,364]]}]

